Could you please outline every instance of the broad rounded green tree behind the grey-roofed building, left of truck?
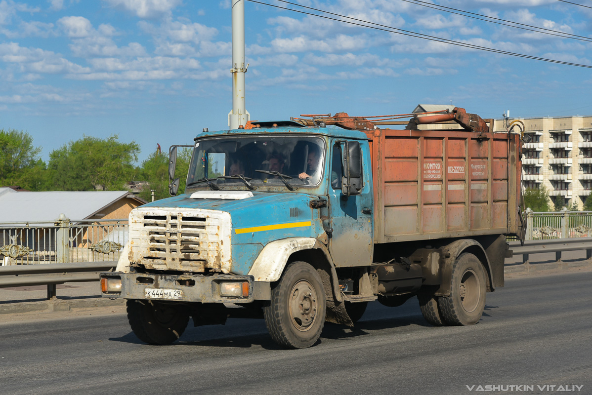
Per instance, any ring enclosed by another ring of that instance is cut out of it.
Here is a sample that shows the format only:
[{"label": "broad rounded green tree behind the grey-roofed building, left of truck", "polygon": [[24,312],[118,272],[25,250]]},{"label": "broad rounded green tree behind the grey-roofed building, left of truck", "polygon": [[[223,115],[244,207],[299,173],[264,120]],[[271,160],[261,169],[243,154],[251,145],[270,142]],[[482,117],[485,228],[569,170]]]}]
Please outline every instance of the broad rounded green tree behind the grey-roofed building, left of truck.
[{"label": "broad rounded green tree behind the grey-roofed building, left of truck", "polygon": [[57,190],[121,190],[137,174],[140,147],[120,143],[117,135],[84,136],[52,151],[47,165]]}]

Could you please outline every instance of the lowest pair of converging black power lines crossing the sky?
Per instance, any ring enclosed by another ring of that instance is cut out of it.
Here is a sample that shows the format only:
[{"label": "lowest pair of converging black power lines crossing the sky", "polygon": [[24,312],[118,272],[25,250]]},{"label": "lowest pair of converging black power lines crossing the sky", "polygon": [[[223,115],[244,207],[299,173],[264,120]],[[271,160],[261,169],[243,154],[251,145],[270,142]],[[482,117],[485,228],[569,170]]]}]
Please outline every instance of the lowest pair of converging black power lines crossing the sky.
[{"label": "lowest pair of converging black power lines crossing the sky", "polygon": [[366,23],[366,24],[370,24],[370,25],[374,25],[374,26],[369,26],[369,25],[365,25],[365,24],[362,24],[362,23],[358,23],[358,22],[344,21],[344,20],[340,20],[340,19],[337,19],[337,18],[326,17],[324,15],[313,14],[311,12],[300,11],[298,9],[291,9],[291,8],[287,8],[287,7],[281,7],[279,5],[269,4],[269,3],[265,3],[265,2],[261,2],[261,1],[256,1],[256,0],[247,0],[247,1],[250,1],[250,2],[253,2],[253,3],[256,3],[256,4],[267,5],[269,7],[274,7],[274,8],[279,8],[279,9],[285,9],[287,11],[298,12],[299,14],[311,15],[311,16],[317,17],[317,18],[324,18],[324,19],[328,19],[328,20],[332,20],[332,21],[337,21],[337,22],[343,22],[343,23],[347,23],[347,24],[351,24],[351,25],[356,25],[356,26],[361,26],[361,27],[368,27],[368,28],[375,29],[375,30],[387,31],[388,33],[407,35],[409,37],[415,37],[415,38],[422,38],[423,40],[436,41],[436,42],[439,42],[439,43],[451,44],[453,46],[458,46],[458,47],[466,47],[466,48],[471,48],[471,49],[476,49],[476,50],[482,50],[482,51],[487,51],[487,52],[493,52],[493,53],[498,53],[498,54],[504,54],[504,55],[509,55],[509,56],[522,57],[522,58],[525,58],[525,59],[547,61],[549,63],[565,64],[567,66],[577,66],[577,67],[585,67],[587,69],[592,69],[592,66],[588,66],[587,64],[580,64],[580,63],[572,63],[572,62],[568,62],[568,61],[547,59],[547,58],[544,58],[544,57],[538,57],[538,56],[532,56],[532,55],[526,55],[526,54],[520,54],[520,53],[514,53],[514,52],[504,51],[504,50],[498,50],[496,48],[488,48],[488,47],[478,46],[478,45],[475,45],[475,44],[462,43],[461,41],[448,40],[447,38],[436,37],[436,36],[433,36],[433,35],[427,35],[427,34],[422,34],[422,33],[416,33],[414,31],[410,31],[410,30],[404,30],[404,29],[395,28],[395,27],[392,27],[392,26],[381,25],[381,24],[378,24],[378,23],[375,23],[375,22],[369,22],[369,21],[359,20],[357,18],[346,17],[345,15],[335,14],[334,12],[324,11],[322,9],[317,9],[317,8],[312,8],[312,7],[306,7],[306,6],[300,5],[300,4],[294,4],[294,3],[291,3],[291,2],[288,2],[288,1],[285,1],[285,0],[275,0],[275,1],[279,1],[279,2],[283,2],[283,3],[295,5],[295,6],[302,7],[302,8],[311,9],[311,10],[317,11],[317,12],[323,12],[325,14],[335,15],[335,16],[340,17],[340,18],[347,18],[347,19],[350,19],[350,20],[355,20],[355,21],[358,21],[358,22],[362,22],[362,23]]}]

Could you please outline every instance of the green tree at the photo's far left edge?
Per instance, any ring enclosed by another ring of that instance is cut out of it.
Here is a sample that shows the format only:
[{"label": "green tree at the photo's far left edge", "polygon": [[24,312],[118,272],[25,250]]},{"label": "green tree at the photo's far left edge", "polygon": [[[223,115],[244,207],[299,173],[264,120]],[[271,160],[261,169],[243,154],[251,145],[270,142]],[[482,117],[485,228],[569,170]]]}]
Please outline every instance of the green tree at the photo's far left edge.
[{"label": "green tree at the photo's far left edge", "polygon": [[27,132],[0,129],[0,186],[43,190],[48,180],[40,153],[41,148],[33,145],[33,137]]}]

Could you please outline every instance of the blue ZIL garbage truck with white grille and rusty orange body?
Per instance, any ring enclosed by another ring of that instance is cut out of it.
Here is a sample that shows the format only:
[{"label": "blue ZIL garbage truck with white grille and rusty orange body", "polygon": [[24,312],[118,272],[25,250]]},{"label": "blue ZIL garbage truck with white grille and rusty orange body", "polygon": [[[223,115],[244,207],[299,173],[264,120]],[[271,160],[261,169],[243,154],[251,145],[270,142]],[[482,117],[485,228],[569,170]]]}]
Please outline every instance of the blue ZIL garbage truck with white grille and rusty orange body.
[{"label": "blue ZIL garbage truck with white grille and rusty orange body", "polygon": [[[102,296],[127,299],[148,344],[190,318],[263,318],[276,343],[306,348],[326,321],[414,296],[432,325],[477,323],[504,286],[506,237],[525,232],[520,134],[462,108],[411,116],[404,129],[346,113],[204,129],[184,193],[175,179],[171,198],[131,211]],[[171,178],[175,160],[172,147]]]}]

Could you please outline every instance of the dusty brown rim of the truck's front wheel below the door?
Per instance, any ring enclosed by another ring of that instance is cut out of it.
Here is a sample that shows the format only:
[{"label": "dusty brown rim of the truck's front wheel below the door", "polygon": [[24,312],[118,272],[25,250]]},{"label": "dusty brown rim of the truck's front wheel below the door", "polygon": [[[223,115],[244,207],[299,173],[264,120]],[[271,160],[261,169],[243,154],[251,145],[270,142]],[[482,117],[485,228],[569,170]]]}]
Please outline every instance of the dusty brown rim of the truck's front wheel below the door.
[{"label": "dusty brown rim of the truck's front wheel below the door", "polygon": [[300,280],[294,284],[290,295],[289,314],[292,325],[298,331],[308,331],[317,315],[317,293],[311,283]]}]

